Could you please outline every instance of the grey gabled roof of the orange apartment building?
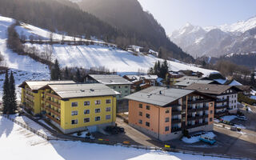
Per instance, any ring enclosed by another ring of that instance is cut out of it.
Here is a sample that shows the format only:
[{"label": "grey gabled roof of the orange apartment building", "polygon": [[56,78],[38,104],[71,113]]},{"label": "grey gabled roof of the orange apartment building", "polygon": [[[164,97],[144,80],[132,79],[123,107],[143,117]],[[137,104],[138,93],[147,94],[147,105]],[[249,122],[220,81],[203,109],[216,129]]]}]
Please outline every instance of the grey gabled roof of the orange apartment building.
[{"label": "grey gabled roof of the orange apartment building", "polygon": [[156,106],[167,106],[171,102],[174,102],[179,98],[182,98],[187,94],[191,93],[194,93],[194,90],[182,90],[151,86],[145,90],[130,94],[125,98],[138,102],[146,102]]}]

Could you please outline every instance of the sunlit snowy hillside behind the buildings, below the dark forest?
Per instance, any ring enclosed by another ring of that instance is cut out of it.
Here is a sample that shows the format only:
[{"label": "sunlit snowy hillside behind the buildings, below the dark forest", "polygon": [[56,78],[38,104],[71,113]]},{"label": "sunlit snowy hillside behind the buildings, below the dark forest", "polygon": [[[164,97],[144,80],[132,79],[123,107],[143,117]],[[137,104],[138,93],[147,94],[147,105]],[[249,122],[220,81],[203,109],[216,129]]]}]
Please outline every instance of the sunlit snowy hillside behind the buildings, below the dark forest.
[{"label": "sunlit snowy hillside behind the buildings, below the dark forest", "polygon": [[[17,26],[16,30],[18,34],[25,34],[27,38],[33,34],[34,36],[40,36],[47,40],[50,35],[50,32],[47,30],[42,30],[24,23],[22,23],[22,26]],[[62,35],[54,34],[54,39],[62,40]],[[73,38],[66,36],[65,40],[73,40]],[[26,46],[35,46],[41,52],[46,47],[45,44],[30,43],[26,43]],[[100,42],[90,46],[53,45],[53,50],[54,58],[58,58],[62,66],[78,66],[83,68],[105,66],[109,70],[118,72],[137,72],[138,69],[146,72],[150,67],[154,66],[154,62],[158,60],[162,61],[162,59],[156,58],[153,55],[135,55],[134,53],[120,50],[114,46],[104,46]],[[174,71],[193,70],[202,72],[205,76],[216,72],[180,62],[169,61],[169,63],[171,70]]]}]

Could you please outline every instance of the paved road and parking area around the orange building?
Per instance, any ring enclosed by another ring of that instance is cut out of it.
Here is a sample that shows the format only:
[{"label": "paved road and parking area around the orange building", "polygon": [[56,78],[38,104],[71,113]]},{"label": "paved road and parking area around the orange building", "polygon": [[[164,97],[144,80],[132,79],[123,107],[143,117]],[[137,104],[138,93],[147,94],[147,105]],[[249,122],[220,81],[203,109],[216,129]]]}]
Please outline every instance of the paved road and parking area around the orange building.
[{"label": "paved road and parking area around the orange building", "polygon": [[116,142],[129,142],[131,145],[143,146],[159,146],[164,147],[165,144],[170,144],[171,147],[180,150],[199,151],[208,154],[227,154],[230,156],[238,156],[250,159],[256,159],[256,107],[251,106],[252,112],[246,112],[243,108],[242,112],[246,115],[247,120],[234,119],[232,122],[238,125],[245,126],[241,132],[230,130],[230,126],[225,125],[223,128],[222,123],[214,123],[215,140],[214,145],[209,145],[204,142],[195,142],[188,144],[182,142],[180,139],[175,139],[170,142],[160,142],[156,138],[152,138],[142,132],[134,129],[125,122],[122,118],[117,118],[118,126],[125,129],[125,133],[114,135],[96,134],[97,138],[107,138],[110,141]]}]

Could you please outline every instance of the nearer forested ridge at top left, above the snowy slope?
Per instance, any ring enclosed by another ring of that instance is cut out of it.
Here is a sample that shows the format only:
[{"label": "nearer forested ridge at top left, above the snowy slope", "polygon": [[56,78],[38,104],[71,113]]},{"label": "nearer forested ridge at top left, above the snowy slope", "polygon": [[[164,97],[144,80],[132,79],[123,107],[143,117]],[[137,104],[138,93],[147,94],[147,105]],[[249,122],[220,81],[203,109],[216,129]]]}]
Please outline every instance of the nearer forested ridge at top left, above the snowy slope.
[{"label": "nearer forested ridge at top left, above the snowy slope", "polygon": [[66,0],[0,0],[0,14],[51,31],[105,38],[118,31]]}]

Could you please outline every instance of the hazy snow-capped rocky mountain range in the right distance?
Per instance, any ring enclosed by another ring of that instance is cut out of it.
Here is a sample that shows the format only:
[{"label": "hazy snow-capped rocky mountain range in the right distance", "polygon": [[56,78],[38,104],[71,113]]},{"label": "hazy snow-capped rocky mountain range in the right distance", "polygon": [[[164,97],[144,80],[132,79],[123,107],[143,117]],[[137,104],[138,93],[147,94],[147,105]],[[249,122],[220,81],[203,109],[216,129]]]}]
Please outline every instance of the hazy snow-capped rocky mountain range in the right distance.
[{"label": "hazy snow-capped rocky mountain range in the right distance", "polygon": [[170,39],[194,57],[219,57],[256,50],[256,17],[222,26],[193,26],[174,30]]}]

